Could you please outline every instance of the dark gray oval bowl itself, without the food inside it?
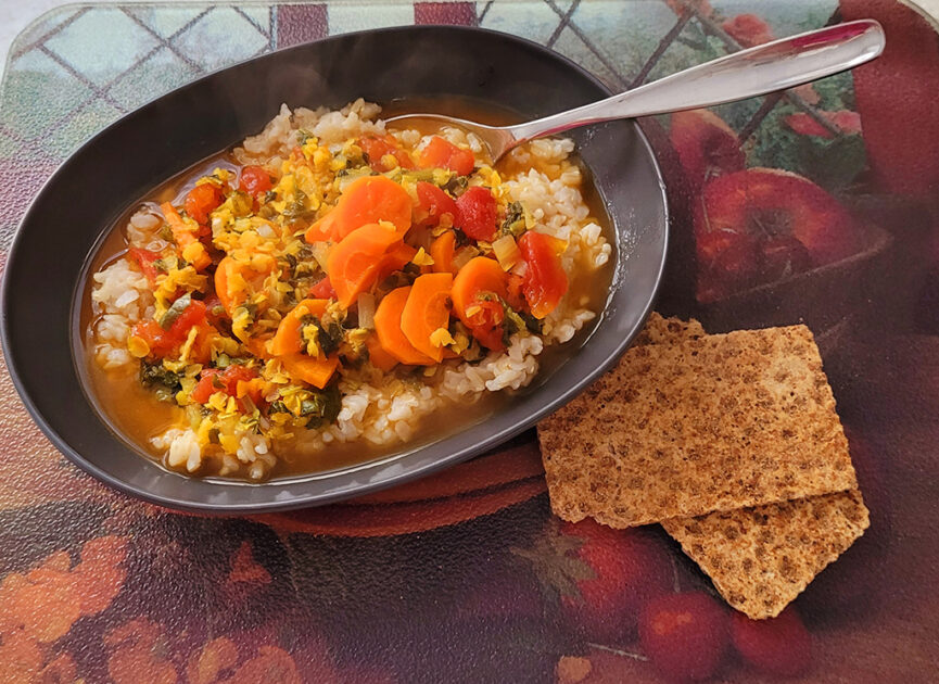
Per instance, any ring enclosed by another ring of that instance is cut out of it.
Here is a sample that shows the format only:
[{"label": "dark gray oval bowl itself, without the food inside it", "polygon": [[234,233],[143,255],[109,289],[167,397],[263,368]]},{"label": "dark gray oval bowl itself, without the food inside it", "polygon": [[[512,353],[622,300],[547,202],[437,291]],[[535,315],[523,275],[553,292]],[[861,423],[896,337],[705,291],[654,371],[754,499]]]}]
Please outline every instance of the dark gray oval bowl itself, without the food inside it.
[{"label": "dark gray oval bowl itself, without the food inside it", "polygon": [[[408,54],[415,58],[399,56]],[[3,351],[13,382],[42,431],[75,464],[124,492],[175,508],[299,508],[414,480],[481,454],[586,388],[626,349],[650,311],[665,258],[668,217],[658,166],[632,122],[573,132],[617,239],[608,305],[582,346],[484,422],[355,468],[244,484],[187,478],[136,453],[99,417],[74,360],[84,265],[102,232],[132,203],[187,166],[259,130],[281,102],[339,107],[359,97],[390,102],[461,96],[534,118],[608,94],[596,78],[538,45],[444,26],[328,38],[174,90],[81,147],[24,216],[2,291]]]}]

